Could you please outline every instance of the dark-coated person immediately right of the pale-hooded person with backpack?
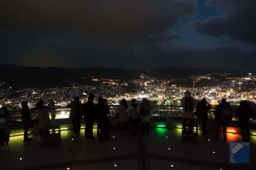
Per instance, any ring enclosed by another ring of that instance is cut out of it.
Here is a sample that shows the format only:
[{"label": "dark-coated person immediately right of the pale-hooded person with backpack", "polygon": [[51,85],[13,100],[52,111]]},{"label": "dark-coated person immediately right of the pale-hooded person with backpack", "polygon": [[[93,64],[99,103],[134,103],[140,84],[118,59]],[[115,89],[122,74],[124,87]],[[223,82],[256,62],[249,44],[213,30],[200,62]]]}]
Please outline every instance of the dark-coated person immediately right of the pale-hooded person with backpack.
[{"label": "dark-coated person immediately right of the pale-hooded person with backpack", "polygon": [[206,126],[208,121],[208,110],[211,109],[211,105],[207,104],[205,98],[203,98],[199,103],[197,104],[197,118],[201,119],[202,126],[203,126],[203,136],[206,136]]}]

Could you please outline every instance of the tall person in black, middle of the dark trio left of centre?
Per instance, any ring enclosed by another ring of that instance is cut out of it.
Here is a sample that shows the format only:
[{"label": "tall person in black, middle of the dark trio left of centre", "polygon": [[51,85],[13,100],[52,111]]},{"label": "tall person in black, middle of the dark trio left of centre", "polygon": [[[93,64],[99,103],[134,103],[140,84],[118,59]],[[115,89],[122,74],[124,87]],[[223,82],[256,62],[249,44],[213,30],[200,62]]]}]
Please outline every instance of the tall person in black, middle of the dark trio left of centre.
[{"label": "tall person in black, middle of the dark trio left of centre", "polygon": [[85,123],[85,139],[89,138],[90,140],[94,140],[95,137],[92,135],[94,119],[96,118],[97,107],[94,104],[94,94],[89,94],[88,101],[83,104],[83,115],[84,115],[84,123]]}]

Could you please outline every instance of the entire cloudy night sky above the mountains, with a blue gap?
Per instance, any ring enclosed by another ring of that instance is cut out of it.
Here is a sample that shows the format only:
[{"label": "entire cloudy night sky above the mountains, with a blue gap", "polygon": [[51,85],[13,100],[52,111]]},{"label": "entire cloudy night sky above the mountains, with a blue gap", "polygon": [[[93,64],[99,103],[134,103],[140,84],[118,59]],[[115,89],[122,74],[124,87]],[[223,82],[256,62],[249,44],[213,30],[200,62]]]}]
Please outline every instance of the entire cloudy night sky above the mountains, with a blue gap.
[{"label": "entire cloudy night sky above the mountains, with a blue gap", "polygon": [[256,72],[255,0],[0,1],[0,63]]}]

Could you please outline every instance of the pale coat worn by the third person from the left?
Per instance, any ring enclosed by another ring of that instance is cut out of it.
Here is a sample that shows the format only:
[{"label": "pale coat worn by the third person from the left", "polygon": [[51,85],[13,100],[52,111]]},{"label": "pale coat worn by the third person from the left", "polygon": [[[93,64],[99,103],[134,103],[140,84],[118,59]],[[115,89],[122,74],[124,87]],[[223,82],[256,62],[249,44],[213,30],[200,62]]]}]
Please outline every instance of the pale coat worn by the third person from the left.
[{"label": "pale coat worn by the third person from the left", "polygon": [[51,126],[50,116],[46,107],[44,107],[43,109],[37,109],[36,112],[39,128],[43,129],[46,126]]}]

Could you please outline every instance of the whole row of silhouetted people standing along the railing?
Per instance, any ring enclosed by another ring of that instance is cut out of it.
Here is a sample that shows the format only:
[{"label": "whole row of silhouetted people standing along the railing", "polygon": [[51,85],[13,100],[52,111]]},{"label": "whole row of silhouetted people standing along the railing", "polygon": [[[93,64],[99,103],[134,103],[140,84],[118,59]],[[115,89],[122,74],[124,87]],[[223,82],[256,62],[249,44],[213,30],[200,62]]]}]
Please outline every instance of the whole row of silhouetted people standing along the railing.
[{"label": "whole row of silhouetted people standing along the railing", "polygon": [[[72,120],[73,132],[75,135],[80,134],[81,119],[84,118],[85,123],[85,139],[95,140],[93,136],[93,125],[97,123],[97,137],[103,142],[104,138],[109,142],[109,106],[107,99],[98,98],[97,104],[94,104],[95,95],[89,94],[88,101],[81,103],[79,97],[75,97],[70,104],[69,119]],[[34,121],[30,116],[30,109],[27,101],[21,101],[21,121],[24,127],[24,142],[29,142],[32,139],[28,137],[28,130],[34,126]],[[185,97],[181,99],[183,107],[183,123],[182,133],[187,136],[193,136],[194,117],[202,123],[202,135],[206,136],[206,127],[208,121],[208,110],[211,109],[209,103],[203,98],[198,104],[191,97],[190,91],[185,92]],[[43,135],[45,127],[55,126],[55,102],[50,103],[51,119],[49,116],[49,107],[46,107],[43,100],[39,100],[36,104],[36,122],[39,127],[40,136]],[[121,134],[126,134],[130,127],[131,135],[136,136],[138,132],[142,135],[149,134],[149,118],[151,114],[151,105],[146,98],[143,98],[140,105],[135,99],[132,99],[131,104],[127,104],[125,99],[122,99],[115,113],[115,118],[118,119],[118,127]],[[215,139],[219,139],[219,129],[222,127],[223,140],[227,140],[227,127],[232,120],[232,108],[226,99],[219,101],[215,112]],[[240,106],[236,109],[235,114],[238,116],[238,126],[241,129],[242,140],[249,141],[250,139],[250,118],[255,115],[251,106],[247,101],[241,101]],[[1,150],[8,149],[9,136],[11,132],[11,115],[6,107],[0,110],[0,146]],[[187,127],[187,123],[189,126]],[[139,128],[140,127],[140,128]],[[140,129],[140,130],[139,130]],[[45,133],[45,132],[44,132]],[[47,133],[47,131],[46,131]],[[50,132],[48,132],[50,134]]]}]

